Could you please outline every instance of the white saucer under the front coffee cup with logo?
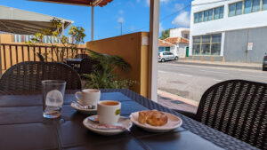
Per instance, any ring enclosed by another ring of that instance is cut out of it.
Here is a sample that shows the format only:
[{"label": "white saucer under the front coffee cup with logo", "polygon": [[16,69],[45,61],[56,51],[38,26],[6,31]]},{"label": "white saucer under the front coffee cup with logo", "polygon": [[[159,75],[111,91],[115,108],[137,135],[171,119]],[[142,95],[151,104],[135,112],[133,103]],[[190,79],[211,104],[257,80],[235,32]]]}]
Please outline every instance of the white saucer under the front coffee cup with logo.
[{"label": "white saucer under the front coffee cup with logo", "polygon": [[[105,135],[105,136],[120,134],[124,132],[125,130],[129,130],[133,125],[130,119],[125,118],[124,116],[120,116],[120,118],[118,119],[117,125],[111,126],[111,128],[108,128],[108,127],[106,128],[105,126],[100,125],[99,122],[92,121],[90,117],[97,118],[97,114],[85,118],[83,122],[84,126],[88,130],[93,131],[94,133]],[[120,127],[117,128],[116,126],[123,126],[123,128],[120,128]]]}]

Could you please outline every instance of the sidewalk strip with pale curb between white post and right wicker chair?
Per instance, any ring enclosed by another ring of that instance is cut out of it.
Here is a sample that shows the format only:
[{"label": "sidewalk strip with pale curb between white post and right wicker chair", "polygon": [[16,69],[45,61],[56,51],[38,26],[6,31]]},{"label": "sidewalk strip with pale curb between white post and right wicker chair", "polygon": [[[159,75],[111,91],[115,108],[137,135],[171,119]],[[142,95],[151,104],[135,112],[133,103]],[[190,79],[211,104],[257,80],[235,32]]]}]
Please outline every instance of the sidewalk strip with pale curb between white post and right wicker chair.
[{"label": "sidewalk strip with pale curb between white post and right wicker chair", "polygon": [[195,114],[198,110],[198,102],[176,96],[166,91],[158,90],[158,103],[170,109],[183,110]]}]

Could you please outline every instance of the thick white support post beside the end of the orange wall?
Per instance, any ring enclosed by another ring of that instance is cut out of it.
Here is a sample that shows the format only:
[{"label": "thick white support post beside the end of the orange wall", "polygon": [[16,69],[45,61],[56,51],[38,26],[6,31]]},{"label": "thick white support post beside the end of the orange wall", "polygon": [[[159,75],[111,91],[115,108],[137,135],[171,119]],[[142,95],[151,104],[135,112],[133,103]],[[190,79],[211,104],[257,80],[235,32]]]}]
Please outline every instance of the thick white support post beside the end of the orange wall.
[{"label": "thick white support post beside the end of the orange wall", "polygon": [[149,99],[158,101],[159,0],[150,0]]}]

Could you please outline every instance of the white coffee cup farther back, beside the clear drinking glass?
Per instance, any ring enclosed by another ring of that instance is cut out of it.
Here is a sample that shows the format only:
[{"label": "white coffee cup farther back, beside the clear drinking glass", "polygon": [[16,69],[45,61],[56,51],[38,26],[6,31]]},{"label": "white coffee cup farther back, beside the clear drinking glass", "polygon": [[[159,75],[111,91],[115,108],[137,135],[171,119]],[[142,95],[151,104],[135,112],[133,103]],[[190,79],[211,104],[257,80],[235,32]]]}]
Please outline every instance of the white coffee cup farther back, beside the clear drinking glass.
[{"label": "white coffee cup farther back, beside the clear drinking glass", "polygon": [[[78,98],[78,95],[80,95],[80,99]],[[83,91],[77,91],[75,93],[75,98],[85,106],[96,106],[101,98],[101,91],[97,89],[85,89]]]}]

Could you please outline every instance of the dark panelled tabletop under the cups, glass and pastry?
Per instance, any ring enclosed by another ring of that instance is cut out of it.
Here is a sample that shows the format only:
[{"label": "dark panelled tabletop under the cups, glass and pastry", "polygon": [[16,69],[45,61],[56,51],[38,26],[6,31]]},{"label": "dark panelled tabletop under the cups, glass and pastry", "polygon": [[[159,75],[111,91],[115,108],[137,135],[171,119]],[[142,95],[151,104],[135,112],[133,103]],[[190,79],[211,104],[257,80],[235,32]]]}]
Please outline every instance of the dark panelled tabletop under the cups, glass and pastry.
[{"label": "dark panelled tabletop under the cups, glass and pastry", "polygon": [[120,101],[121,115],[125,116],[148,109],[176,114],[182,118],[182,127],[166,133],[150,133],[133,125],[130,132],[101,136],[85,129],[82,121],[86,115],[70,107],[74,92],[66,92],[61,118],[52,120],[43,118],[39,92],[0,92],[0,149],[256,149],[129,90],[101,90],[101,100]]}]

